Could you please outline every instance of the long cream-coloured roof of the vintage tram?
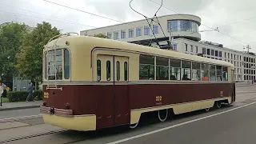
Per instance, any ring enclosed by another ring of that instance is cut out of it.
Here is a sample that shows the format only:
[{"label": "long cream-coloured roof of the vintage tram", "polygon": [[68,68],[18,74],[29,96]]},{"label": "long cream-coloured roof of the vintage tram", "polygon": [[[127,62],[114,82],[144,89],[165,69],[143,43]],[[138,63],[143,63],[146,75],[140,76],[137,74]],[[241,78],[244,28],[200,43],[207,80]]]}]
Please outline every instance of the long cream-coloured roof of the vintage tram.
[{"label": "long cream-coloured roof of the vintage tram", "polygon": [[59,46],[60,42],[65,43],[66,41],[70,42],[70,45],[75,43],[75,45],[79,45],[79,46],[90,45],[94,47],[98,46],[98,47],[118,48],[122,50],[142,52],[146,54],[156,54],[159,56],[180,58],[180,59],[192,60],[197,62],[214,63],[216,65],[234,67],[234,65],[231,64],[230,62],[225,62],[225,61],[216,60],[212,58],[204,58],[197,55],[184,54],[174,50],[162,50],[162,49],[158,49],[150,46],[142,46],[142,45],[133,44],[129,42],[121,42],[121,41],[108,39],[108,38],[96,38],[96,37],[90,37],[90,36],[68,36],[68,37],[58,38],[58,42],[56,42],[56,39],[55,39],[49,42],[48,46],[53,46],[54,42],[56,42],[56,44]]}]

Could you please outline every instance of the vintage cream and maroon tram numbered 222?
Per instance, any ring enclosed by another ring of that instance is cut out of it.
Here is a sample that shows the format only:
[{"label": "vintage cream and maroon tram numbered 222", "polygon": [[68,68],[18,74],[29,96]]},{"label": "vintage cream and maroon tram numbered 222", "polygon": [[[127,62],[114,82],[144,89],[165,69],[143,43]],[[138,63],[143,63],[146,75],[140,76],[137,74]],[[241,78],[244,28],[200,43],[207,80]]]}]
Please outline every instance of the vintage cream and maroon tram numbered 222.
[{"label": "vintage cream and maroon tram numbered 222", "polygon": [[70,130],[138,126],[235,101],[229,62],[107,38],[62,35],[43,49],[46,124]]}]

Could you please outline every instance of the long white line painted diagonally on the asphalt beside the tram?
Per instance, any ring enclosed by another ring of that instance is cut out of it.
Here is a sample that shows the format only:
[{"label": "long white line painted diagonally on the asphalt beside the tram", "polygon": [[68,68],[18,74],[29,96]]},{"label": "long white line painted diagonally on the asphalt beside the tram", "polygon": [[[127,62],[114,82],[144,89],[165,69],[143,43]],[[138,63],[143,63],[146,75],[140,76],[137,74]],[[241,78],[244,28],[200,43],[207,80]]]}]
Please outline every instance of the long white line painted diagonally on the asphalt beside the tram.
[{"label": "long white line painted diagonally on the asphalt beside the tram", "polygon": [[141,138],[141,137],[144,137],[146,135],[158,133],[158,132],[161,132],[161,131],[164,131],[164,130],[169,130],[169,129],[172,129],[174,127],[186,125],[186,124],[191,123],[191,122],[197,122],[197,121],[200,121],[202,119],[211,118],[211,117],[214,117],[214,116],[219,115],[219,114],[224,114],[224,113],[227,113],[227,112],[230,112],[230,111],[233,111],[233,110],[238,110],[238,109],[240,109],[242,107],[253,105],[254,103],[256,103],[256,102],[252,102],[252,103],[249,103],[249,104],[246,104],[246,105],[243,105],[243,106],[238,106],[238,107],[235,107],[234,109],[222,111],[222,112],[217,113],[217,114],[211,114],[211,115],[208,115],[206,117],[196,118],[194,120],[190,120],[190,121],[187,121],[187,122],[182,122],[182,123],[179,123],[177,125],[168,126],[168,127],[165,127],[165,128],[159,129],[159,130],[150,131],[150,132],[147,132],[147,133],[144,133],[144,134],[138,134],[138,135],[130,137],[130,138],[124,138],[124,139],[121,139],[121,140],[118,140],[118,141],[115,141],[115,142],[110,142],[110,143],[107,143],[107,144],[117,144],[117,143],[121,143],[121,142],[130,141],[130,140],[132,140],[134,138]]}]

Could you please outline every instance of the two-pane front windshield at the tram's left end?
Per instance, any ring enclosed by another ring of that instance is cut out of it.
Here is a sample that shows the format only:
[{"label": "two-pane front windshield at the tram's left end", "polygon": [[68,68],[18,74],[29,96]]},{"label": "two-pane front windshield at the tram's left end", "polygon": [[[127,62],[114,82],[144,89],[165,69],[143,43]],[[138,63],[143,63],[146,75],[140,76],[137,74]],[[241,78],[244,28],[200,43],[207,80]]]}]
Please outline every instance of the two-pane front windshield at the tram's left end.
[{"label": "two-pane front windshield at the tram's left end", "polygon": [[[56,50],[56,59],[54,59],[55,50],[48,51],[48,80],[62,80],[62,50]],[[56,62],[56,63],[55,63]]]}]

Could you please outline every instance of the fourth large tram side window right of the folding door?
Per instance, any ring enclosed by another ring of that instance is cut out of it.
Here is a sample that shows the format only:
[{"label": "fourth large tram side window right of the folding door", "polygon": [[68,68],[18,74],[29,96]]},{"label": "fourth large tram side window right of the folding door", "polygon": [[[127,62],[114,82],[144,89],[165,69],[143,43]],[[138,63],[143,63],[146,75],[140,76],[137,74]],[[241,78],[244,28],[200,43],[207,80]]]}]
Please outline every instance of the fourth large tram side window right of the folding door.
[{"label": "fourth large tram side window right of the folding door", "polygon": [[182,81],[191,80],[191,62],[182,61]]}]

